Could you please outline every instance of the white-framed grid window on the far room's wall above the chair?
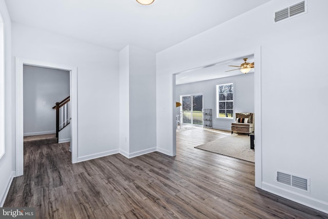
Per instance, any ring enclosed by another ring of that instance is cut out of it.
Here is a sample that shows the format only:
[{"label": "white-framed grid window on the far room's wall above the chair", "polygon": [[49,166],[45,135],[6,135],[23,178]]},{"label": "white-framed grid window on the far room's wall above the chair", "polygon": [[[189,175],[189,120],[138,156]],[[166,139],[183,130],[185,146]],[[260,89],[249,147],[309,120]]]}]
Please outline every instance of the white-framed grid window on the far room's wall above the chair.
[{"label": "white-framed grid window on the far room's wall above the chair", "polygon": [[234,85],[216,85],[216,117],[233,118],[234,116]]}]

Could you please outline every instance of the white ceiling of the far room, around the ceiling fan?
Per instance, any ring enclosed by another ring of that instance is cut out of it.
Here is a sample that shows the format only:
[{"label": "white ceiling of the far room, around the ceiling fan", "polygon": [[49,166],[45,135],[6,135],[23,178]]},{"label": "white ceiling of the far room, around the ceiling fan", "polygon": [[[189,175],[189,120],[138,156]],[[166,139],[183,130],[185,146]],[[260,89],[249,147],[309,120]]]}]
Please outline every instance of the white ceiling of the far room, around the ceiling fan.
[{"label": "white ceiling of the far room, around the ceiling fan", "polygon": [[[240,64],[244,63],[242,58],[234,58],[224,62],[213,63],[207,66],[201,66],[199,68],[186,70],[176,74],[176,85],[187,84],[199,81],[206,81],[215,78],[221,77],[230,77],[238,74],[244,74],[240,70],[229,71],[233,69],[238,69],[237,67],[229,67],[229,65],[240,66]],[[254,55],[247,56],[248,63],[254,62]],[[256,64],[254,66],[256,68]],[[229,72],[226,72],[229,71]],[[249,73],[254,72],[254,69],[251,69]]]}]

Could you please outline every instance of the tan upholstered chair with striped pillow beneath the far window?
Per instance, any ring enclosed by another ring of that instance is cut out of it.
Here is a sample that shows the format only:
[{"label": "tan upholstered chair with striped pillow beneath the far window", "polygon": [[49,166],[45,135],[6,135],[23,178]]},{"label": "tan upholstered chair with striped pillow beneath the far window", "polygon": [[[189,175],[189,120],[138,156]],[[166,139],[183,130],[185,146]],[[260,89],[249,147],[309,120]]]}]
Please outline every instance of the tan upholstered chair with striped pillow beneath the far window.
[{"label": "tan upholstered chair with striped pillow beneath the far window", "polygon": [[231,134],[233,132],[254,132],[254,113],[236,113],[236,122],[231,124]]}]

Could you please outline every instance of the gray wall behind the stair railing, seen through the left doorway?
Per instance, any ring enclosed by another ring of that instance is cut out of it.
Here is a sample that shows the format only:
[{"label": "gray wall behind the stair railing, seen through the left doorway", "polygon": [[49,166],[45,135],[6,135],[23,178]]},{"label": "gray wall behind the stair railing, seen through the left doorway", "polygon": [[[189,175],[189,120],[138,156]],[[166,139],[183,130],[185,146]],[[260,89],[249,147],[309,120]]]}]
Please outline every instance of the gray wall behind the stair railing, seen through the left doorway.
[{"label": "gray wall behind the stair railing, seen through the left doorway", "polygon": [[24,136],[55,133],[52,107],[70,95],[69,71],[23,67]]}]

